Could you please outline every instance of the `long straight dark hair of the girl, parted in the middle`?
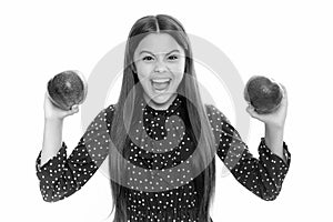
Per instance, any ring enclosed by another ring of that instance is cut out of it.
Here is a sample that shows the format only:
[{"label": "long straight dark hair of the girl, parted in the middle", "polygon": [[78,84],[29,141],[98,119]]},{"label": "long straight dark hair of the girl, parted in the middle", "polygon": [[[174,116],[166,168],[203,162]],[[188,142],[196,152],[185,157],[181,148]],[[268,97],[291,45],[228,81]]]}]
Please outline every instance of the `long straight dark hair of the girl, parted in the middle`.
[{"label": "long straight dark hair of the girl, parted in the middle", "polygon": [[[147,16],[139,19],[130,30],[124,54],[123,79],[118,102],[114,105],[114,113],[111,124],[111,147],[114,147],[119,153],[124,153],[124,148],[129,144],[128,131],[131,124],[138,121],[139,117],[133,114],[139,107],[143,89],[139,82],[133,61],[134,51],[140,41],[150,33],[169,33],[182,47],[185,52],[185,69],[182,81],[178,87],[178,92],[184,95],[186,102],[189,119],[198,140],[199,152],[193,155],[193,168],[202,169],[203,195],[200,200],[199,218],[200,221],[209,221],[209,211],[212,196],[215,189],[215,141],[206,117],[205,107],[202,102],[196,74],[193,65],[192,49],[190,40],[183,26],[174,18],[167,14]],[[190,78],[186,78],[190,77]],[[129,122],[128,117],[132,119]],[[127,221],[127,201],[125,190],[122,184],[127,181],[127,161],[118,154],[109,153],[109,169],[111,178],[112,210],[115,209],[113,222]],[[110,214],[111,214],[110,213]]]}]

